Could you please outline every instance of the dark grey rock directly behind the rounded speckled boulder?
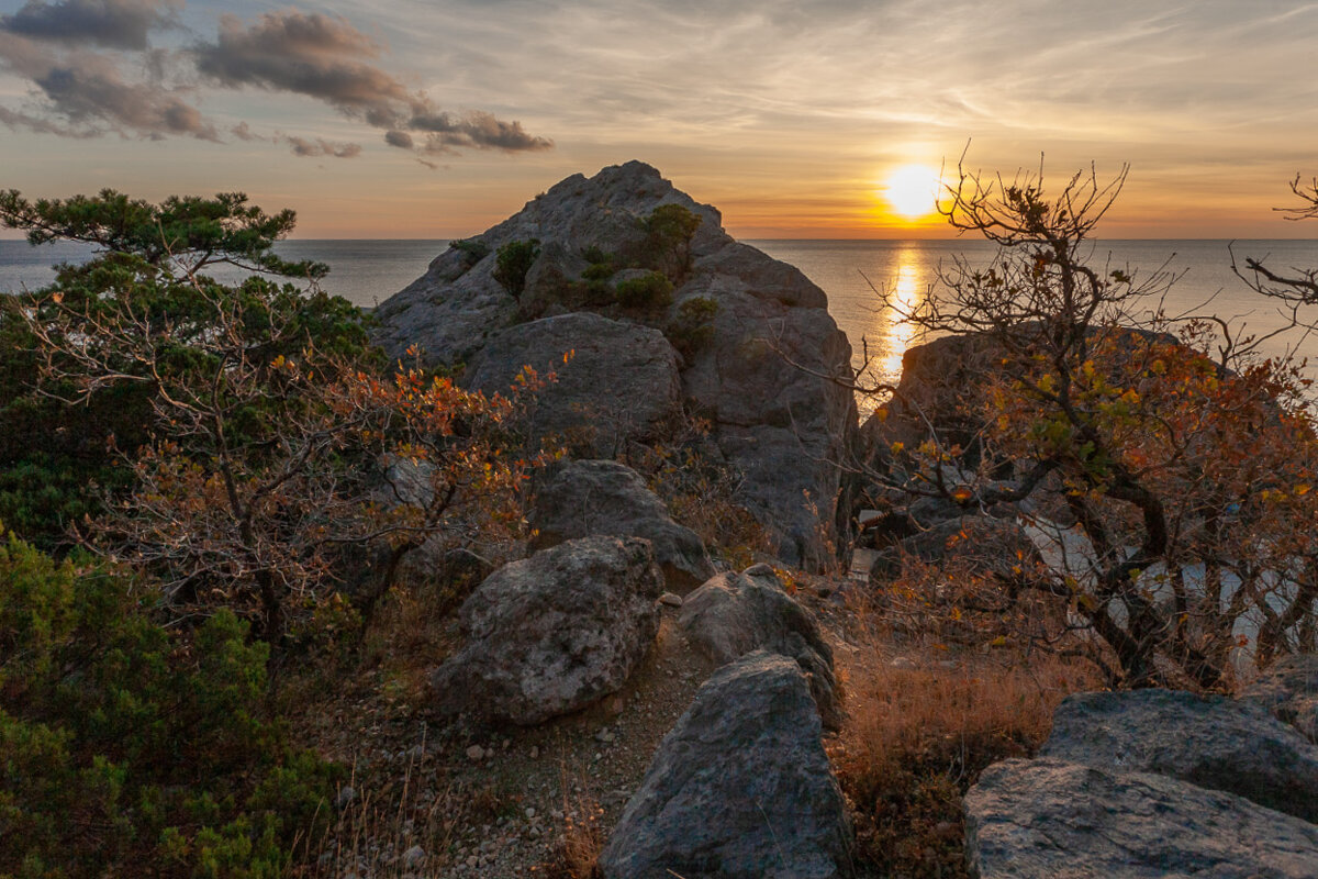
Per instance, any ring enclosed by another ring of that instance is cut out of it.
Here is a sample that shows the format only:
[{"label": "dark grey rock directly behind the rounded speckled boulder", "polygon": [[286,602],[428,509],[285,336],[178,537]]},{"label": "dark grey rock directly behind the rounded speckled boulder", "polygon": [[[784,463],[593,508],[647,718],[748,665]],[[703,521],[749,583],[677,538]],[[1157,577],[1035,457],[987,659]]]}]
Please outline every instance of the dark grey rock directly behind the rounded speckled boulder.
[{"label": "dark grey rock directly behind the rounded speckled boulder", "polygon": [[544,550],[589,534],[645,538],[670,589],[683,592],[714,575],[705,544],[672,521],[641,474],[616,461],[569,461],[535,493],[531,546]]}]

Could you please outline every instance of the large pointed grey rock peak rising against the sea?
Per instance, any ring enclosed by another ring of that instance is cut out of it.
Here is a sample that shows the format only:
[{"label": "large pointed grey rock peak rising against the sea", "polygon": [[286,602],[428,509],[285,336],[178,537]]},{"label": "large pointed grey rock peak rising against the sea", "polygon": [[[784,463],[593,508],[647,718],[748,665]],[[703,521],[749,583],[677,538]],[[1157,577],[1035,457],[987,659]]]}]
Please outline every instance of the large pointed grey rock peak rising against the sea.
[{"label": "large pointed grey rock peak rising against the sea", "polygon": [[[629,254],[646,246],[646,219],[670,204],[701,217],[681,265],[667,266],[676,283],[672,303],[648,315],[609,304]],[[518,299],[496,281],[498,249],[531,240],[539,252]],[[597,270],[601,258],[617,260],[619,271]],[[629,162],[590,179],[569,177],[519,213],[451,246],[376,315],[377,339],[390,356],[418,345],[427,362],[469,362],[471,386],[506,387],[519,358],[536,369],[552,365],[559,385],[568,386],[546,391],[536,416],[568,431],[602,427],[602,438],[584,449],[593,457],[612,453],[633,428],[643,432],[668,411],[676,394],[670,394],[672,369],[655,327],[676,332],[700,315],[700,332],[681,344],[680,397],[710,424],[712,463],[742,477],[729,499],[770,530],[784,561],[817,564],[829,560],[829,544],[841,547],[849,538],[850,485],[838,464],[847,460],[857,430],[851,393],[829,381],[850,376],[851,351],[825,306],[824,293],[800,271],[733,241],[718,211],[679,192],[655,169]],[[581,308],[608,318],[561,314]],[[539,314],[556,316],[519,324]],[[633,357],[619,329],[610,328],[605,344],[598,329],[610,320],[627,326],[646,353]],[[569,348],[576,356],[563,366]],[[645,377],[623,376],[637,369]],[[573,415],[580,411],[602,424],[583,423]]]}]

